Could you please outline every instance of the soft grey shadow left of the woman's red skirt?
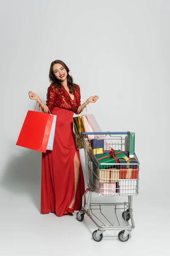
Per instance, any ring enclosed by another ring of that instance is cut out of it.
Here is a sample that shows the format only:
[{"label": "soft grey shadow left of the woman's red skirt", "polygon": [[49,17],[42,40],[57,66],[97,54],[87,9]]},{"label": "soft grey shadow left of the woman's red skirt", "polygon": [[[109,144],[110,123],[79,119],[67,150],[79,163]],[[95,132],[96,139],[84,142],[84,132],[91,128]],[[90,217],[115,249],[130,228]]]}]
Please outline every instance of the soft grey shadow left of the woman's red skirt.
[{"label": "soft grey shadow left of the woman's red skirt", "polygon": [[24,151],[23,155],[10,157],[0,184],[11,192],[29,195],[40,211],[41,153]]}]

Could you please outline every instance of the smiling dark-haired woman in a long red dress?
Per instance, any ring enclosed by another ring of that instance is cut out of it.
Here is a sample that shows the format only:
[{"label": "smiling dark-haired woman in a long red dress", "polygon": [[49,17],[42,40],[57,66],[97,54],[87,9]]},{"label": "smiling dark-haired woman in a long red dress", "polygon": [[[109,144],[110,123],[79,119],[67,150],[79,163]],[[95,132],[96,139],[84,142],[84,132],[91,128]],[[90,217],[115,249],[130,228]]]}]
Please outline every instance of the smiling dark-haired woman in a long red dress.
[{"label": "smiling dark-haired woman in a long red dress", "polygon": [[[80,104],[79,85],[73,83],[63,61],[51,63],[45,113],[57,115],[53,150],[42,153],[41,213],[54,212],[63,216],[80,210],[85,191],[79,150],[73,132],[73,115],[81,113],[98,96],[91,96]],[[30,99],[41,104],[36,93],[29,91]],[[48,111],[49,109],[49,111]]]}]

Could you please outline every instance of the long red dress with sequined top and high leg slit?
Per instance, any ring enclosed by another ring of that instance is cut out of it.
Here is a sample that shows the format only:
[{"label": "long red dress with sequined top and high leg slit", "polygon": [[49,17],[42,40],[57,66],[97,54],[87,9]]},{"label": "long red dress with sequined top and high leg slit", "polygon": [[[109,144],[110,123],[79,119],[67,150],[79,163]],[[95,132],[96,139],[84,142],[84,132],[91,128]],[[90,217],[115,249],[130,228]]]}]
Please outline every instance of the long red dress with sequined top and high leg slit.
[{"label": "long red dress with sequined top and high leg slit", "polygon": [[[54,212],[57,216],[68,214],[67,209],[74,198],[74,156],[76,149],[73,132],[73,115],[80,105],[80,89],[71,99],[64,86],[48,87],[46,105],[57,115],[53,150],[42,153],[41,213]],[[84,177],[80,162],[80,176],[76,192],[74,210],[80,210],[85,191]]]}]

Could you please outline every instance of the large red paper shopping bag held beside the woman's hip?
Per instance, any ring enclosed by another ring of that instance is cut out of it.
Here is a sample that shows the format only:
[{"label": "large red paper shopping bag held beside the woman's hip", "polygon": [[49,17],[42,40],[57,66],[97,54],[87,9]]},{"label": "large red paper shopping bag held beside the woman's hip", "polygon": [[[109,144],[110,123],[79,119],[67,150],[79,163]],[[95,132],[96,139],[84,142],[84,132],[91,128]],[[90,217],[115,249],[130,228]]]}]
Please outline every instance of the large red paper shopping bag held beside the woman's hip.
[{"label": "large red paper shopping bag held beside the woman's hip", "polygon": [[29,110],[16,145],[45,153],[53,119],[51,114]]}]

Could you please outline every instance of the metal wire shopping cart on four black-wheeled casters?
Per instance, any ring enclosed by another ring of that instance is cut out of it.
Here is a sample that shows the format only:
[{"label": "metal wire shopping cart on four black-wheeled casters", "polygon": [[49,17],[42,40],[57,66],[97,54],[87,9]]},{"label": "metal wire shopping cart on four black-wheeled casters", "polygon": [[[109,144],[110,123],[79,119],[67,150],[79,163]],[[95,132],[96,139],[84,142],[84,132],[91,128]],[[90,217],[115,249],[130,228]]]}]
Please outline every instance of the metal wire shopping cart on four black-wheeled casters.
[{"label": "metal wire shopping cart on four black-wheeled casters", "polygon": [[[136,163],[129,161],[115,164],[99,163],[91,150],[91,140],[88,139],[89,134],[93,134],[97,140],[103,139],[104,149],[109,152],[111,148],[125,151],[125,137],[129,132],[82,133],[88,188],[82,196],[82,209],[77,212],[78,221],[83,221],[84,215],[87,214],[97,226],[98,230],[95,230],[92,235],[95,241],[101,241],[103,232],[106,230],[121,230],[118,238],[120,241],[125,242],[129,239],[129,233],[135,227],[132,203],[133,196],[138,195],[139,189],[139,160],[134,154],[134,156],[130,157],[134,157]],[[95,193],[101,196],[119,196],[119,198],[127,196],[127,202],[92,203],[91,198]],[[88,195],[88,199],[85,203],[86,195]],[[107,210],[107,207],[112,209],[111,212]],[[120,211],[122,225],[119,218]],[[108,217],[109,212],[111,213],[110,217]]]}]

